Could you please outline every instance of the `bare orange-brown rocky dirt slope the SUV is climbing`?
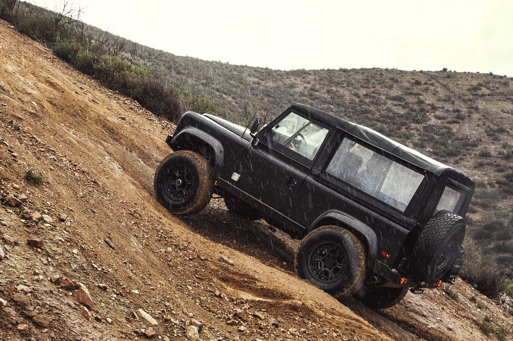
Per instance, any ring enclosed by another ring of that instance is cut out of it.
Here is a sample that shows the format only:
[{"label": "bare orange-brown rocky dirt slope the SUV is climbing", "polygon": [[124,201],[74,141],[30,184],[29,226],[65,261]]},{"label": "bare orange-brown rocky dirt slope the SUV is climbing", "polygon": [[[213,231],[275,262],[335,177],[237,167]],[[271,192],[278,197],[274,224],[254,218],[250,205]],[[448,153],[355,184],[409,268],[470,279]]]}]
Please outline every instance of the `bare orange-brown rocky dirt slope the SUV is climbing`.
[{"label": "bare orange-brown rocky dirt slope the SUV is climbing", "polygon": [[286,236],[253,238],[265,226],[216,200],[185,221],[156,203],[170,123],[5,22],[0,65],[0,339],[486,339],[485,314],[511,322],[464,284],[473,301],[349,302],[361,317],[290,271]]}]

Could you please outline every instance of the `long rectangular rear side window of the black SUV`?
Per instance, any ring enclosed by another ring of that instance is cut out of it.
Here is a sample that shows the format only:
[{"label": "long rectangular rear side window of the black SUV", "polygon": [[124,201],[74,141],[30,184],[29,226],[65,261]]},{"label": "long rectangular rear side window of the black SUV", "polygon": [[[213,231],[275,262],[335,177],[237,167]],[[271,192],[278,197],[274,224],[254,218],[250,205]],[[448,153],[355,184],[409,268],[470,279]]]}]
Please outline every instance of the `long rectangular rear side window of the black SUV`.
[{"label": "long rectangular rear side window of the black SUV", "polygon": [[326,173],[404,212],[424,175],[349,139],[344,139]]}]

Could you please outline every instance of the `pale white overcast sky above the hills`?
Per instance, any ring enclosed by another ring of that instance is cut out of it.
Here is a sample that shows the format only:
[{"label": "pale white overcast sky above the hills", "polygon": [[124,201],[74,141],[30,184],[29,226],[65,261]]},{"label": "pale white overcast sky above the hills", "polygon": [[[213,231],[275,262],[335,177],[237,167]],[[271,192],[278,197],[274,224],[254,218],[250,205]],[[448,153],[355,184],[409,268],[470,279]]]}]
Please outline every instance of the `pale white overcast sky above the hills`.
[{"label": "pale white overcast sky above the hills", "polygon": [[282,70],[513,76],[511,0],[69,0],[79,3],[87,24],[176,55]]}]

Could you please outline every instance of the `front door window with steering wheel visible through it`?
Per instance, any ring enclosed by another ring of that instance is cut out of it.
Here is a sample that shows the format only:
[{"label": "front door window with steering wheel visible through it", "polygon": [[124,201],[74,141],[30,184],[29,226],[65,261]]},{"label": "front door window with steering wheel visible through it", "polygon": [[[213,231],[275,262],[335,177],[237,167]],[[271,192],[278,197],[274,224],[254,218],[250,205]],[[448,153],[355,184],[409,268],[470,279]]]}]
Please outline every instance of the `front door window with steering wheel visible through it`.
[{"label": "front door window with steering wheel visible through it", "polygon": [[295,113],[289,113],[265,136],[275,143],[313,160],[327,134],[328,129]]}]

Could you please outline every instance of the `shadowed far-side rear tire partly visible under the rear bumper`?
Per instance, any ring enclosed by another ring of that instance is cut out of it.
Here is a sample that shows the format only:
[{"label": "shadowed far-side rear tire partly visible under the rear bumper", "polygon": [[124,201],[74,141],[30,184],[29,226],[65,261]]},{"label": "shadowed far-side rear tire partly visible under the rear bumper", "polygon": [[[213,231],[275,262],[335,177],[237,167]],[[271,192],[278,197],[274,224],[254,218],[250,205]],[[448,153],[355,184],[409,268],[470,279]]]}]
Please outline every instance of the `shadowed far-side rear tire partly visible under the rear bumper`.
[{"label": "shadowed far-side rear tire partly visible under the rear bumper", "polygon": [[384,288],[365,282],[355,296],[369,308],[386,309],[401,302],[407,292],[408,288]]}]

